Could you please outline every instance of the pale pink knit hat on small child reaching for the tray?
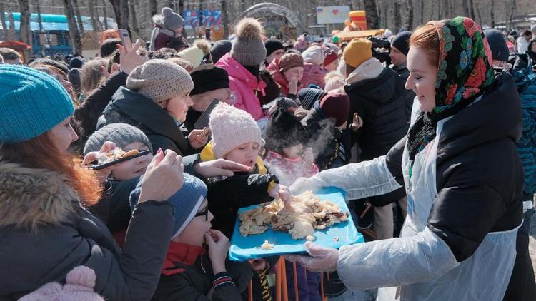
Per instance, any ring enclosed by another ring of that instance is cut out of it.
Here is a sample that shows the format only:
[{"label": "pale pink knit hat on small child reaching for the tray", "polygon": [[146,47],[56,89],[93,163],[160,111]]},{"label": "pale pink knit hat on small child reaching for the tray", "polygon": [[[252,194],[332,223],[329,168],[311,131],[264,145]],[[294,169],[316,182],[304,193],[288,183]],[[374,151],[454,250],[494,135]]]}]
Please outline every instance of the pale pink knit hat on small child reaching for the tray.
[{"label": "pale pink knit hat on small child reaching for the tray", "polygon": [[249,113],[227,103],[218,103],[210,113],[209,126],[212,131],[214,156],[224,158],[227,153],[244,143],[262,144],[261,130]]}]

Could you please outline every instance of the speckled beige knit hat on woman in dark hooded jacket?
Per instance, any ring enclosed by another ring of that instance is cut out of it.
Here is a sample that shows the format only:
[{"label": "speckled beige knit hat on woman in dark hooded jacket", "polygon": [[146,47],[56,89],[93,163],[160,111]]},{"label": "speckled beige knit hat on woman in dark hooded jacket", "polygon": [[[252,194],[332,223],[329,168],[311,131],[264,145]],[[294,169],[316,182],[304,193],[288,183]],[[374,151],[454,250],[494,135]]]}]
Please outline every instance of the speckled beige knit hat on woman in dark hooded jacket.
[{"label": "speckled beige knit hat on woman in dark hooded jacket", "polygon": [[126,88],[159,103],[189,93],[194,82],[188,71],[176,63],[154,59],[137,66],[130,73],[126,78]]}]

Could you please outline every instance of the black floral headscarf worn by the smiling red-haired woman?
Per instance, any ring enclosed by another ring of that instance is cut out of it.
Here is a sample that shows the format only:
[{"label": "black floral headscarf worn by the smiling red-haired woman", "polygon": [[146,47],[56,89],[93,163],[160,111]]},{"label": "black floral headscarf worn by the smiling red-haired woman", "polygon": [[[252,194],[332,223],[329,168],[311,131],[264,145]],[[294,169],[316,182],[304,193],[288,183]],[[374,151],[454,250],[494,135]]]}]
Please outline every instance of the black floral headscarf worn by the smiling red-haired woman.
[{"label": "black floral headscarf worn by the smiling red-haired woman", "polygon": [[420,113],[410,128],[407,148],[412,160],[435,138],[437,121],[468,106],[495,79],[491,49],[480,25],[461,16],[428,24],[440,38],[435,108]]}]

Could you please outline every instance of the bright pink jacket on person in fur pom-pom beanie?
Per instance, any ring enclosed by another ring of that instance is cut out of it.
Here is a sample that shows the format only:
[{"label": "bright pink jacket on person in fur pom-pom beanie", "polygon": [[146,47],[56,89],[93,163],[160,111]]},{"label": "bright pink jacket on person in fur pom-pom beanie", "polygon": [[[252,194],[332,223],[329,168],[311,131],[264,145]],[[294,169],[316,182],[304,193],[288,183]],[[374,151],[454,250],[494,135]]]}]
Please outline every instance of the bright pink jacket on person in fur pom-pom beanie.
[{"label": "bright pink jacket on person in fur pom-pom beanie", "polygon": [[266,83],[257,80],[244,66],[235,61],[229,53],[222,56],[216,66],[224,68],[229,73],[229,88],[236,96],[234,102],[230,104],[251,114],[256,121],[267,117],[262,111],[259,98],[254,93],[256,90],[264,90]]}]

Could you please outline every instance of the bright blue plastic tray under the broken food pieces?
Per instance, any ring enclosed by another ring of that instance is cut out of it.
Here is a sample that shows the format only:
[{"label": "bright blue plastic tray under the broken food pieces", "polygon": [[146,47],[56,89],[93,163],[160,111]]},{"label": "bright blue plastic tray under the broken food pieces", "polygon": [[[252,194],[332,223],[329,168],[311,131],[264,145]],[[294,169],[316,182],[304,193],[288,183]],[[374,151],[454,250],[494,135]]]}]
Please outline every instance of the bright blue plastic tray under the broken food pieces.
[{"label": "bright blue plastic tray under the broken food pieces", "polygon": [[[342,190],[337,188],[324,188],[318,190],[317,195],[322,200],[331,200],[340,206],[343,212],[349,212],[348,206],[344,201]],[[244,210],[249,210],[257,207],[253,205],[238,210],[241,213]],[[314,230],[314,243],[324,245],[326,247],[340,248],[342,245],[352,245],[354,243],[363,243],[363,235],[357,232],[354,221],[351,217],[344,223],[338,223],[326,230]],[[334,237],[338,237],[339,241],[335,242]],[[268,240],[274,244],[271,250],[262,250],[260,246]],[[231,238],[231,248],[229,248],[229,259],[234,261],[246,261],[260,257],[269,257],[274,255],[285,255],[306,252],[304,243],[307,240],[293,240],[289,233],[282,231],[274,231],[268,228],[264,233],[249,235],[244,237],[239,232],[239,220],[237,218],[234,224],[234,233]]]}]

